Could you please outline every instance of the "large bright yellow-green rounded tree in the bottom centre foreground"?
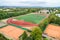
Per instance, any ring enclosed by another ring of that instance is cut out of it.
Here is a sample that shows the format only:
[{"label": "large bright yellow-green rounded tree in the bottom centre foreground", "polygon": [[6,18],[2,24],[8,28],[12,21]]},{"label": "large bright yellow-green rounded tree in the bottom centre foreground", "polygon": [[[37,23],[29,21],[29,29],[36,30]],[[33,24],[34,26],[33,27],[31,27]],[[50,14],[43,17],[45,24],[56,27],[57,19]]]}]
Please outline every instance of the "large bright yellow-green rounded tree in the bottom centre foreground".
[{"label": "large bright yellow-green rounded tree in the bottom centre foreground", "polygon": [[39,27],[32,30],[31,35],[33,40],[42,40],[42,31]]}]

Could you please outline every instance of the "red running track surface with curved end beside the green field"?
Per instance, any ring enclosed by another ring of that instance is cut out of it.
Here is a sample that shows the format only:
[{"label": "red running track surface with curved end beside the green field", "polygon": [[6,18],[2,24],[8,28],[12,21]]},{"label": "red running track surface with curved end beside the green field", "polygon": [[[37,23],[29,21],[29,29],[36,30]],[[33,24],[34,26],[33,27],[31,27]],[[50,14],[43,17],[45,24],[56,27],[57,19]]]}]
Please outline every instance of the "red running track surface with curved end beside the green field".
[{"label": "red running track surface with curved end beside the green field", "polygon": [[25,22],[24,20],[13,20],[13,19],[8,19],[7,20],[7,23],[8,24],[16,24],[16,25],[19,25],[19,26],[23,26],[23,27],[32,27],[32,26],[38,26],[37,24],[33,24],[33,23],[30,23],[30,22]]}]

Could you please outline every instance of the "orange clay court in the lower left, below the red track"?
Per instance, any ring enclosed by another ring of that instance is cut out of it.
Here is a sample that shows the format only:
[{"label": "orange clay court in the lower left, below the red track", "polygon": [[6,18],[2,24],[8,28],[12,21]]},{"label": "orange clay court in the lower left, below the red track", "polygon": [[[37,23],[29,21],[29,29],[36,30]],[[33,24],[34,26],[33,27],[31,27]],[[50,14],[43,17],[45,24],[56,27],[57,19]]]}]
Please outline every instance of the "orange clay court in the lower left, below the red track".
[{"label": "orange clay court in the lower left, below the red track", "polygon": [[13,38],[14,40],[18,40],[18,37],[23,34],[24,30],[9,25],[0,29],[0,32]]}]

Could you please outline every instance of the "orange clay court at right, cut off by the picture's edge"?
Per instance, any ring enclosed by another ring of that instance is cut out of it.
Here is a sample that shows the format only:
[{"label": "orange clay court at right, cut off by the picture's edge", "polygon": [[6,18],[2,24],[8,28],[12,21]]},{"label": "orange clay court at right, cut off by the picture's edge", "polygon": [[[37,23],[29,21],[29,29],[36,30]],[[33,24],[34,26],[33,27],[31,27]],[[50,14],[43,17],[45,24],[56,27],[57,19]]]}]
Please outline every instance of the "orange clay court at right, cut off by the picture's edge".
[{"label": "orange clay court at right, cut off by the picture's edge", "polygon": [[49,24],[44,33],[46,33],[48,36],[60,39],[60,26]]}]

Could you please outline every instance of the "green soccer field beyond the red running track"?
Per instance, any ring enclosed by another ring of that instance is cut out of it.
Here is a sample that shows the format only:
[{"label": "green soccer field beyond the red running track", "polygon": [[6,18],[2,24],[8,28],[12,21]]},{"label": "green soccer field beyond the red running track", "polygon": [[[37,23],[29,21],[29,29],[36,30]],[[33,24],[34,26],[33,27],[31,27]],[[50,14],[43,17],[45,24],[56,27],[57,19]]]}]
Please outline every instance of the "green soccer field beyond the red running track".
[{"label": "green soccer field beyond the red running track", "polygon": [[42,16],[42,15],[29,14],[29,15],[18,16],[15,19],[39,24],[44,18],[45,16]]}]

